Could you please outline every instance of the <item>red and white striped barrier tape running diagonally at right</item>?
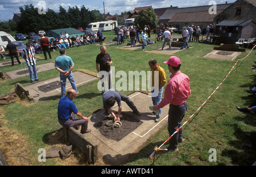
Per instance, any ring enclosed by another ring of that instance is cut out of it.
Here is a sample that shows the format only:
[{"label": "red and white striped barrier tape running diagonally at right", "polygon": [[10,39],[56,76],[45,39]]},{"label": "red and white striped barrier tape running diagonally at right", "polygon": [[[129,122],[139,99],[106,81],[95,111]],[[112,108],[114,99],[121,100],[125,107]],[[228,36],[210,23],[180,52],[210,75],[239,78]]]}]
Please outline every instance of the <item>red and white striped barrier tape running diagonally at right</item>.
[{"label": "red and white striped barrier tape running diagonally at right", "polygon": [[[253,49],[254,49],[255,47],[256,47],[256,45],[254,45],[254,47],[250,50],[250,52],[247,54],[246,57],[244,57],[244,58],[242,58],[242,59],[238,59],[237,62],[240,61],[240,60],[244,60],[245,58],[247,58],[247,57],[249,56],[249,54],[253,51]],[[218,86],[216,87],[216,89],[212,92],[212,94],[210,94],[210,96],[207,98],[207,100],[205,100],[205,102],[204,102],[203,104],[201,104],[201,106],[188,118],[188,120],[186,120],[186,121],[181,125],[180,128],[178,128],[166,141],[164,141],[164,143],[163,143],[162,145],[160,145],[159,147],[157,147],[157,146],[155,147],[155,149],[154,149],[155,151],[150,155],[150,158],[151,158],[151,159],[154,158],[156,151],[158,151],[158,150],[167,150],[167,149],[160,149],[160,147],[162,147],[164,144],[166,144],[166,142],[169,141],[169,140],[171,139],[171,137],[174,136],[175,133],[179,132],[179,130],[183,127],[183,125],[185,125],[185,124],[191,119],[191,117],[193,117],[193,116],[196,114],[196,112],[199,111],[199,109],[201,109],[201,108],[205,105],[205,103],[207,103],[207,101],[210,99],[210,97],[212,97],[212,95],[218,90],[218,88],[222,85],[222,83],[225,81],[225,79],[228,77],[228,75],[231,73],[231,71],[232,71],[232,70],[234,69],[234,67],[237,65],[237,62],[236,62],[236,64],[234,64],[234,66],[233,66],[232,69],[229,71],[229,73],[226,75],[226,77],[221,81],[220,85],[218,85]]]}]

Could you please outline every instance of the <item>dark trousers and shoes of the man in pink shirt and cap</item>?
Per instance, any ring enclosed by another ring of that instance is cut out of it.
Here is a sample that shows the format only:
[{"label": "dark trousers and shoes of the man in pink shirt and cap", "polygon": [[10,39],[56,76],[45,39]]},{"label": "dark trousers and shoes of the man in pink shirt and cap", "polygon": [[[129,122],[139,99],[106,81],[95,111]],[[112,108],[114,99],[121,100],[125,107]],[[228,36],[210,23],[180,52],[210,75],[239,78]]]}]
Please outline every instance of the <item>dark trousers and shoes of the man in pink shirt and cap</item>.
[{"label": "dark trousers and shoes of the man in pink shirt and cap", "polygon": [[[175,106],[170,104],[169,107],[169,116],[168,116],[168,132],[169,135],[172,136],[174,132],[181,127],[181,121],[185,116],[185,112],[187,111],[188,104],[187,102]],[[180,128],[179,132],[175,133],[169,140],[170,145],[167,147],[168,150],[175,150],[177,149],[177,144],[179,140],[183,139],[182,128]]]}]

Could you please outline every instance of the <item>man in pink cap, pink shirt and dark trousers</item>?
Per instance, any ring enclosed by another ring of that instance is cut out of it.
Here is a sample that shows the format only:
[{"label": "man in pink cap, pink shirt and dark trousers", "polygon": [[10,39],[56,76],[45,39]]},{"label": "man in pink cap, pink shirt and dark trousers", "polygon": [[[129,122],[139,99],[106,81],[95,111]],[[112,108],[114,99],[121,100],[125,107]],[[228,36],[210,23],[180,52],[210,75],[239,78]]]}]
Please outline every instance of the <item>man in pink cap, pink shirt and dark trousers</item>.
[{"label": "man in pink cap, pink shirt and dark trousers", "polygon": [[[191,90],[189,77],[180,71],[180,58],[171,56],[164,64],[168,64],[168,70],[172,74],[164,90],[164,99],[162,99],[158,105],[153,106],[153,109],[157,110],[170,104],[168,112],[168,132],[170,136],[172,136],[172,134],[181,127],[181,120],[188,107],[186,100],[191,94]],[[183,141],[182,128],[179,132],[175,133],[169,141],[170,145],[167,147],[167,151],[177,151],[178,142]]]}]

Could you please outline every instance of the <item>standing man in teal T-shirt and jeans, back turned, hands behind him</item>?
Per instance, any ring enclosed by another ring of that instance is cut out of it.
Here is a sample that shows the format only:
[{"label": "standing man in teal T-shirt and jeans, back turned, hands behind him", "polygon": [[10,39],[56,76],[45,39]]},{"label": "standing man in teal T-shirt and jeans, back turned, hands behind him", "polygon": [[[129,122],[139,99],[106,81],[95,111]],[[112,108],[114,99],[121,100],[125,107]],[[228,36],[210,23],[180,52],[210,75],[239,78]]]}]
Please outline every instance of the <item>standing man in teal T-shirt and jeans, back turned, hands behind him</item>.
[{"label": "standing man in teal T-shirt and jeans, back turned, hands behind him", "polygon": [[[60,85],[61,85],[61,96],[65,95],[66,80],[68,78],[72,88],[77,92],[75,79],[73,77],[72,69],[74,63],[71,57],[66,55],[67,52],[64,48],[60,49],[60,56],[55,60],[55,68],[60,71]],[[78,93],[78,92],[77,92]]]}]

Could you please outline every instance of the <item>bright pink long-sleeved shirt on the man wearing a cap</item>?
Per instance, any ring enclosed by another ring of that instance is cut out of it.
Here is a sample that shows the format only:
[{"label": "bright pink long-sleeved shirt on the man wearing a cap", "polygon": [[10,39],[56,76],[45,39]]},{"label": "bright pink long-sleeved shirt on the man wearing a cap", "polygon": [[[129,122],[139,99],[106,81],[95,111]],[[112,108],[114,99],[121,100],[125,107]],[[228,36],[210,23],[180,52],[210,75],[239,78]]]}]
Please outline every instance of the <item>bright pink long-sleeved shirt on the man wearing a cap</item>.
[{"label": "bright pink long-sleeved shirt on the man wearing a cap", "polygon": [[170,76],[166,90],[164,90],[164,99],[162,99],[156,108],[163,108],[167,104],[179,106],[185,103],[190,94],[189,77],[181,73],[181,71],[177,71]]}]

